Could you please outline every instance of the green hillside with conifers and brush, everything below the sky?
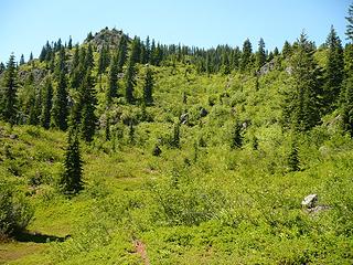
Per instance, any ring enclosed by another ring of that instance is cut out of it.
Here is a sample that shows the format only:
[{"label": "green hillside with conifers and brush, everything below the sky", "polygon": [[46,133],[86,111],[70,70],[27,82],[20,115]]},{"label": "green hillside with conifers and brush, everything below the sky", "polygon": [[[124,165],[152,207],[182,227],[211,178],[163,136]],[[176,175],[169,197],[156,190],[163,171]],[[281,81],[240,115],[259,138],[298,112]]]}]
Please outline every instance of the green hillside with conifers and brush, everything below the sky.
[{"label": "green hillside with conifers and brush, everything below the sky", "polygon": [[333,26],[274,51],[105,28],[10,55],[0,263],[352,264],[346,21],[345,46]]}]

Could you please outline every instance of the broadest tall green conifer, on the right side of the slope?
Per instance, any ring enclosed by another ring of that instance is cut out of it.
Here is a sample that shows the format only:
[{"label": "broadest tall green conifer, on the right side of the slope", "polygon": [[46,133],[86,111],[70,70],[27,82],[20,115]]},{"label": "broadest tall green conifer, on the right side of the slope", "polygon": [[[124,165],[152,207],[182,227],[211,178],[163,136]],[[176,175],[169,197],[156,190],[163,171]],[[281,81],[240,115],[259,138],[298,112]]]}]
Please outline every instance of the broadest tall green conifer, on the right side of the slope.
[{"label": "broadest tall green conifer, on the right side of the slope", "polygon": [[292,84],[284,105],[285,125],[307,131],[320,121],[321,71],[313,60],[313,46],[302,33],[292,59]]}]

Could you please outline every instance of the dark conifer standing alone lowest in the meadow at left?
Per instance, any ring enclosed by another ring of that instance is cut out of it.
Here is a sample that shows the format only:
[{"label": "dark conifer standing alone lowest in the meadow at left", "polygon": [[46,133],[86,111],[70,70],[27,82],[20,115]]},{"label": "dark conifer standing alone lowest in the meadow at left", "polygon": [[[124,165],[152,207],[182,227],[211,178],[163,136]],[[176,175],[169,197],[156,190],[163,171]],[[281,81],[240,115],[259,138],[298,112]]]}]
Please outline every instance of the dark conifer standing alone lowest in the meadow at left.
[{"label": "dark conifer standing alone lowest in the meadow at left", "polygon": [[60,180],[60,188],[65,194],[76,194],[84,188],[83,160],[79,151],[77,129],[71,128],[67,137],[67,148],[64,161],[64,172]]}]

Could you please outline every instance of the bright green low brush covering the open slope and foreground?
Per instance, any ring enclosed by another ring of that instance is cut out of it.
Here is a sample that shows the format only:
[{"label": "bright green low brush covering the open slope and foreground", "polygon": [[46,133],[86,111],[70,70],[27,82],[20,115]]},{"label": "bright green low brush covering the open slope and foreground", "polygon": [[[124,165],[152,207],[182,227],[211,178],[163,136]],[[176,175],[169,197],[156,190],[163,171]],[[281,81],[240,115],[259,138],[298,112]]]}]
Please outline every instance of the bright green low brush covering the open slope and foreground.
[{"label": "bright green low brush covering the open slope and foreground", "polygon": [[[319,65],[324,70],[328,47],[309,46],[314,51],[307,57],[312,73]],[[66,50],[68,57],[76,51]],[[119,51],[117,62],[126,56]],[[304,129],[297,116],[284,118],[295,82],[286,49],[272,54],[272,66],[263,74],[254,65],[201,71],[200,62],[190,63],[195,57],[185,55],[151,65],[130,57],[131,73],[116,80],[109,78],[118,71],[114,63],[109,66],[96,50],[92,55],[95,86],[87,74],[89,93],[68,91],[82,105],[75,105],[66,121],[87,121],[77,130],[83,141],[75,157],[79,177],[83,160],[83,176],[76,195],[62,192],[63,176],[71,176],[68,150],[78,150],[76,145],[67,148],[67,132],[12,126],[12,119],[0,123],[0,233],[11,236],[26,229],[47,236],[40,252],[0,262],[352,264],[350,130],[340,118],[341,108],[320,113],[320,120]],[[255,65],[265,63],[255,57]],[[20,71],[44,70],[49,65],[43,60],[22,64]],[[49,89],[47,78],[43,83]],[[121,95],[125,84],[133,87],[129,98]],[[60,82],[53,85],[57,92]],[[20,97],[26,89],[25,84],[19,87]],[[78,115],[79,107],[86,116]],[[98,119],[94,134],[87,115]],[[291,128],[290,123],[297,125]],[[92,138],[85,139],[83,131]],[[318,211],[301,206],[311,193],[319,197]]]}]

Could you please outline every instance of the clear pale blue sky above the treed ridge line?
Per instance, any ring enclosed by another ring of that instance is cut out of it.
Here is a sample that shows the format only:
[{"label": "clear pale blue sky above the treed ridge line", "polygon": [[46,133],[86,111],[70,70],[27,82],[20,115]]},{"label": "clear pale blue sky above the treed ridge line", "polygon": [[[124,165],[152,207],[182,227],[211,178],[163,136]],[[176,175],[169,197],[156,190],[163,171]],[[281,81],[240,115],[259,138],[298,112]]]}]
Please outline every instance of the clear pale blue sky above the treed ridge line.
[{"label": "clear pale blue sky above the treed ridge line", "polygon": [[281,47],[302,29],[317,44],[333,24],[344,40],[345,19],[352,0],[0,0],[0,61],[11,52],[19,60],[35,57],[46,40],[82,42],[87,33],[105,26],[129,35],[147,35],[164,44],[203,47],[242,46],[249,38],[257,46]]}]

